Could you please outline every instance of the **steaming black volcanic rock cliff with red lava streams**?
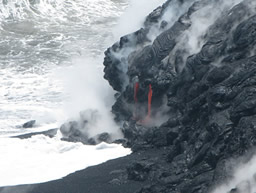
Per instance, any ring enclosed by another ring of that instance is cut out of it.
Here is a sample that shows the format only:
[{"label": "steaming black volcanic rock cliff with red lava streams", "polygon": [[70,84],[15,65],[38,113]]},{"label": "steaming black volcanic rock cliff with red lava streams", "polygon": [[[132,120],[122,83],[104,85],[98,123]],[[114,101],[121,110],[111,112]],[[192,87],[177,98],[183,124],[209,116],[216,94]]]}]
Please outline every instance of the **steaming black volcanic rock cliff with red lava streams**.
[{"label": "steaming black volcanic rock cliff with red lava streams", "polygon": [[105,52],[105,79],[117,91],[112,112],[126,145],[159,150],[127,167],[129,180],[148,184],[138,193],[211,192],[229,180],[230,158],[251,158],[255,44],[253,1],[168,0]]}]

